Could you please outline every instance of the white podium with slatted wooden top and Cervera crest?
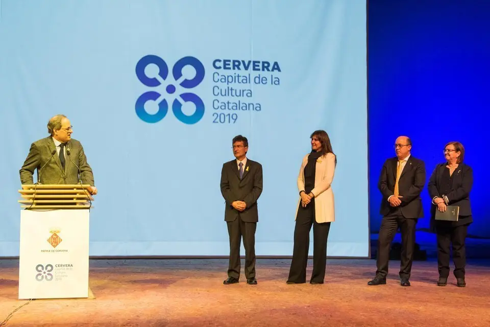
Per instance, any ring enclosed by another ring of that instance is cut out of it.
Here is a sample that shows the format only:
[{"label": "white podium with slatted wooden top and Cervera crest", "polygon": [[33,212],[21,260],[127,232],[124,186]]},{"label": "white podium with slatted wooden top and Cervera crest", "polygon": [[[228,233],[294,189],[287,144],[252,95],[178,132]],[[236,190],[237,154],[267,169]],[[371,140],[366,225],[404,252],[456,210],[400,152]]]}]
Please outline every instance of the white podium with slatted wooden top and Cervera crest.
[{"label": "white podium with slatted wooden top and Cervera crest", "polygon": [[86,184],[22,185],[19,299],[93,298]]}]

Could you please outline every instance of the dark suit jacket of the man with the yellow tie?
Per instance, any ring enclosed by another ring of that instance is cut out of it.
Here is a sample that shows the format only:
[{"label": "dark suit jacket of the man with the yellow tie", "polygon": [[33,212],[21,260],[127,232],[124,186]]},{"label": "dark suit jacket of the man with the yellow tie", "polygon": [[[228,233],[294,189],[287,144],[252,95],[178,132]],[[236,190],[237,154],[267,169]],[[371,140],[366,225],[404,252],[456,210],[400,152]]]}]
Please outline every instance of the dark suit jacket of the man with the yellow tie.
[{"label": "dark suit jacket of the man with the yellow tie", "polygon": [[[391,206],[388,197],[395,194],[395,182],[397,180],[398,158],[390,158],[384,162],[381,175],[379,176],[378,188],[383,194],[380,213],[383,216],[389,214]],[[425,164],[424,161],[410,155],[403,168],[400,180],[398,181],[398,191],[402,215],[405,218],[422,218],[422,199],[420,193],[425,185]]]}]

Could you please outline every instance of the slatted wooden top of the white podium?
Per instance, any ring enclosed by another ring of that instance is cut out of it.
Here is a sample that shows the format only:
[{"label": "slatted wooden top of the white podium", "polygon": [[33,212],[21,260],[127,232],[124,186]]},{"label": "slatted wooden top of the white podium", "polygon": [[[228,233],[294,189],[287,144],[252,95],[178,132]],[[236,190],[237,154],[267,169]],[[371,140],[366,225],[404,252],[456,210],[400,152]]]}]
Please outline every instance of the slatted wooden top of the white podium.
[{"label": "slatted wooden top of the white podium", "polygon": [[18,190],[24,209],[88,209],[94,198],[88,184],[24,184]]}]

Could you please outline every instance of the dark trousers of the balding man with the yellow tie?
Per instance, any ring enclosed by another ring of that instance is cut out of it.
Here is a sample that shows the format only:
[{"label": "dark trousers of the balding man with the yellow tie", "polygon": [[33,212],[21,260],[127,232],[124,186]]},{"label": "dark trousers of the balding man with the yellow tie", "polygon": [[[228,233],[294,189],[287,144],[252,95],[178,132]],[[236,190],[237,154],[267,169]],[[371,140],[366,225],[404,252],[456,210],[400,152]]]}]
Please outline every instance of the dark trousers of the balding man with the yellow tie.
[{"label": "dark trousers of the balding man with the yellow tie", "polygon": [[400,227],[402,233],[402,253],[400,262],[400,278],[410,278],[413,262],[413,249],[415,246],[415,225],[417,219],[405,218],[399,207],[383,217],[378,238],[378,270],[376,275],[386,278],[388,274],[389,249],[393,238]]}]

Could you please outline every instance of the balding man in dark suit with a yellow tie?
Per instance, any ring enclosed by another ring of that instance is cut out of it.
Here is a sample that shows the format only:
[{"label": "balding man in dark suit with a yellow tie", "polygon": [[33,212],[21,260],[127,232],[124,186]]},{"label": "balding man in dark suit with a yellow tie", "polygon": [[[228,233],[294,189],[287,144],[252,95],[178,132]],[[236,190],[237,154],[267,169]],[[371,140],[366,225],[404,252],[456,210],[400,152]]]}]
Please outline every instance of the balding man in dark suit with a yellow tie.
[{"label": "balding man in dark suit with a yellow tie", "polygon": [[424,217],[420,193],[425,184],[424,161],[410,154],[412,142],[407,136],[400,136],[395,142],[396,157],[384,162],[378,188],[383,195],[381,214],[383,219],[379,229],[376,277],[367,285],[386,284],[388,274],[389,248],[398,227],[402,233],[402,253],[400,263],[400,285],[410,286],[410,270],[415,245],[415,225]]}]

